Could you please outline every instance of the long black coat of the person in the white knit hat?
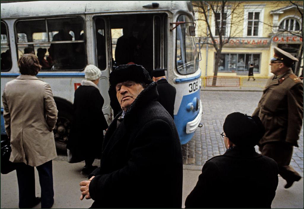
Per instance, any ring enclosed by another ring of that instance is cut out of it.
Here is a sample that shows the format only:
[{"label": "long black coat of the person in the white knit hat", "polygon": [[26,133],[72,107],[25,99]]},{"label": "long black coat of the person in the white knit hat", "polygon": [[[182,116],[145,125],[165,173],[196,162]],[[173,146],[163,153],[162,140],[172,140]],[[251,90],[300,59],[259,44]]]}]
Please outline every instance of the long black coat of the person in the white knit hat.
[{"label": "long black coat of the person in the white knit hat", "polygon": [[[73,123],[67,144],[67,148],[73,150],[74,153],[78,155],[82,153],[83,157],[84,155],[97,157],[102,147],[103,130],[108,127],[102,112],[103,103],[104,99],[95,86],[81,85],[76,89]],[[89,149],[83,149],[85,145],[88,145]]]}]

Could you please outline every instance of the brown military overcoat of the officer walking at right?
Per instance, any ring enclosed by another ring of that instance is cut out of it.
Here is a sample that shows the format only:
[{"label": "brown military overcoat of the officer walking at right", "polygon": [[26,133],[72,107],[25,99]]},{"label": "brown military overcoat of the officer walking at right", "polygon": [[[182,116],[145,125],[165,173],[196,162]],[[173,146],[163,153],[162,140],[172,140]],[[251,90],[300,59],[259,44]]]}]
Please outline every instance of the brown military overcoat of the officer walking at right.
[{"label": "brown military overcoat of the officer walking at right", "polygon": [[269,78],[253,115],[260,117],[266,129],[259,144],[286,141],[298,147],[303,122],[303,82],[289,69]]}]

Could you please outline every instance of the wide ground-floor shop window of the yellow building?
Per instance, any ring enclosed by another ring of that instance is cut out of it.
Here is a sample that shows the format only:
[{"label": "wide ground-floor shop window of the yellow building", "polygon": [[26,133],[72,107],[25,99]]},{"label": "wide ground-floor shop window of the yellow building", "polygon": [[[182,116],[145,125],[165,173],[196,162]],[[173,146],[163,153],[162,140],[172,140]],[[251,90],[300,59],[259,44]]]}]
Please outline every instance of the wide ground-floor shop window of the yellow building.
[{"label": "wide ground-floor shop window of the yellow building", "polygon": [[260,71],[260,54],[221,54],[219,71],[248,71],[250,64],[254,65],[253,71]]}]

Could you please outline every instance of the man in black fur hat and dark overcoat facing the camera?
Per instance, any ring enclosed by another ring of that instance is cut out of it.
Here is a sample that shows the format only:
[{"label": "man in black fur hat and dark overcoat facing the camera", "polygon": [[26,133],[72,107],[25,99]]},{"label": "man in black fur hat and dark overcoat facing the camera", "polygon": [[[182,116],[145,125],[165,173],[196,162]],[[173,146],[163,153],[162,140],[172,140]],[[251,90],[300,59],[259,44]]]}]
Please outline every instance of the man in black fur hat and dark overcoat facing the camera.
[{"label": "man in black fur hat and dark overcoat facing the camera", "polygon": [[80,183],[81,199],[95,200],[92,208],[181,208],[181,145],[157,83],[136,64],[118,66],[109,81],[123,111],[105,134],[100,167]]}]

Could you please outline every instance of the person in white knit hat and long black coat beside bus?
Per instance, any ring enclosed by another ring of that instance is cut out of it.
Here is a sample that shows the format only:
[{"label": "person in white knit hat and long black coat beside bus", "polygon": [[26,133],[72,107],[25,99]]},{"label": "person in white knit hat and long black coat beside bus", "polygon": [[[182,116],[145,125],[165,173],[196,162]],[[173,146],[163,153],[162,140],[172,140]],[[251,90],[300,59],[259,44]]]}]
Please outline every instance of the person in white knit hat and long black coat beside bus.
[{"label": "person in white knit hat and long black coat beside bus", "polygon": [[[80,156],[78,162],[85,160],[82,169],[85,174],[97,168],[92,164],[102,147],[103,130],[108,128],[102,112],[104,99],[97,86],[100,76],[101,71],[95,65],[86,66],[86,80],[81,81],[74,95],[74,116],[67,148]],[[88,148],[83,149],[84,146]]]}]

